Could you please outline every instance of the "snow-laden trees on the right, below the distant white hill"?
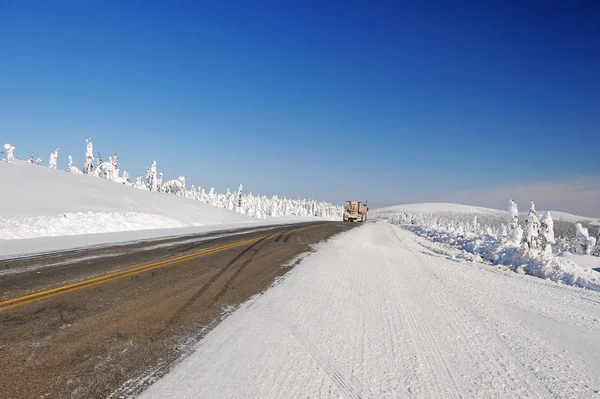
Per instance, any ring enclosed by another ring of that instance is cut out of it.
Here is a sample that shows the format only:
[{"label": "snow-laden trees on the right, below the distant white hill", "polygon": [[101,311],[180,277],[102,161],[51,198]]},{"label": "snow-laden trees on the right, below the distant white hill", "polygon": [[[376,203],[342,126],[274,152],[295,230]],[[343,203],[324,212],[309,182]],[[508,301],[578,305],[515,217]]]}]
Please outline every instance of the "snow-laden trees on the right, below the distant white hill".
[{"label": "snow-laden trees on the right, below the distant white hill", "polygon": [[551,255],[558,252],[572,252],[581,255],[600,256],[600,231],[598,240],[590,236],[588,229],[580,223],[575,224],[575,237],[567,239],[554,236],[554,221],[550,211],[543,212],[541,216],[535,209],[532,201],[524,227],[519,221],[519,209],[517,204],[510,200],[508,207],[507,223],[501,223],[499,227],[482,225],[478,217],[473,221],[458,220],[458,218],[446,215],[421,214],[401,212],[392,215],[389,221],[394,224],[411,224],[425,228],[445,230],[459,235],[483,234],[492,237],[503,247],[522,248],[531,255]]}]

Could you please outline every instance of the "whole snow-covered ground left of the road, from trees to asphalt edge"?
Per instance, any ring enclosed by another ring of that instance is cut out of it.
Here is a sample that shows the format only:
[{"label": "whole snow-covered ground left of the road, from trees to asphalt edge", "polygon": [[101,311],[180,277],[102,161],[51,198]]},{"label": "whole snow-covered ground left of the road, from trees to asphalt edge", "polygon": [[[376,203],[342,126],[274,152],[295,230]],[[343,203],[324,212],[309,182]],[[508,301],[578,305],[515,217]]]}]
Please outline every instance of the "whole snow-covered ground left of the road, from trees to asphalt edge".
[{"label": "whole snow-covered ground left of the road, from trees to asphalt edge", "polygon": [[[264,225],[178,195],[27,162],[0,162],[0,257]],[[314,217],[284,216],[268,224]]]}]

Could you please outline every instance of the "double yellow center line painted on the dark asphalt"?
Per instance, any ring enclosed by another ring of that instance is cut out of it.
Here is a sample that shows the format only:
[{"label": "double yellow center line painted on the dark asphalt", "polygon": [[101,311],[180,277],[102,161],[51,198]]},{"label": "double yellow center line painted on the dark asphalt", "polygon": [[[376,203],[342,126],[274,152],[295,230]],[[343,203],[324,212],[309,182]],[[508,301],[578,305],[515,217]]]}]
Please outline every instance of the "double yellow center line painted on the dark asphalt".
[{"label": "double yellow center line painted on the dark asphalt", "polygon": [[227,244],[227,245],[223,245],[223,246],[216,247],[216,248],[209,248],[209,249],[194,252],[191,254],[176,256],[174,258],[169,258],[169,259],[165,259],[165,260],[158,261],[158,262],[153,262],[153,263],[149,263],[149,264],[145,264],[145,265],[141,265],[141,266],[136,266],[136,267],[133,267],[130,269],[105,274],[100,277],[90,278],[87,280],[79,281],[77,283],[67,284],[67,285],[63,285],[63,286],[56,287],[56,288],[51,288],[51,289],[44,290],[44,291],[34,292],[33,294],[23,295],[23,296],[20,296],[17,298],[12,298],[12,299],[7,299],[5,301],[0,302],[0,312],[4,311],[4,310],[13,309],[18,306],[23,306],[23,305],[26,305],[29,303],[41,301],[43,299],[53,298],[58,295],[67,294],[69,292],[79,291],[84,288],[89,288],[89,287],[93,287],[93,286],[96,286],[99,284],[104,284],[109,281],[133,276],[135,274],[154,270],[159,267],[173,265],[175,263],[180,263],[180,262],[183,262],[186,260],[199,258],[201,256],[214,254],[217,252],[226,251],[228,249],[233,249],[233,248],[241,247],[244,245],[252,244],[257,241],[266,239],[266,238],[275,238],[282,234],[289,234],[289,233],[293,233],[293,232],[297,232],[297,231],[301,231],[301,230],[311,229],[311,228],[314,228],[317,226],[319,226],[319,225],[300,227],[297,229],[292,229],[292,230],[284,231],[281,233],[274,233],[274,234],[265,235],[265,236],[261,236],[261,237],[257,237],[257,238],[251,238],[249,240],[238,241],[238,242],[234,242],[232,244]]}]

